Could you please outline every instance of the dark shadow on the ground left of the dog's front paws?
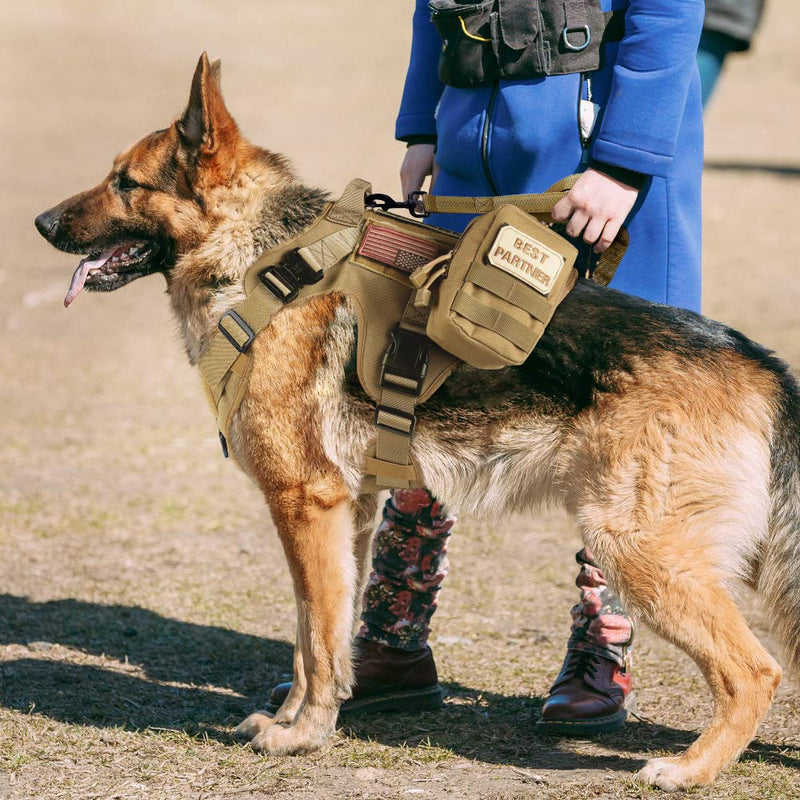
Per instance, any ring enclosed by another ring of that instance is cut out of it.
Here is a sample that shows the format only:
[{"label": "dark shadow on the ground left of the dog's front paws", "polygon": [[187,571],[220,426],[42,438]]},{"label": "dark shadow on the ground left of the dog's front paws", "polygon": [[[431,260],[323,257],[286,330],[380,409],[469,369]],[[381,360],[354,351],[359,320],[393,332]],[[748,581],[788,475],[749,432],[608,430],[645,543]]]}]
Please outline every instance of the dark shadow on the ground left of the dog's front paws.
[{"label": "dark shadow on the ground left of the dog's front paws", "polygon": [[[266,688],[291,672],[292,645],[135,606],[32,602],[0,595],[0,644],[26,647],[0,663],[0,704],[63,722],[169,728],[232,741]],[[69,662],[56,646],[105,655],[113,669]],[[215,730],[221,728],[223,730]]]}]

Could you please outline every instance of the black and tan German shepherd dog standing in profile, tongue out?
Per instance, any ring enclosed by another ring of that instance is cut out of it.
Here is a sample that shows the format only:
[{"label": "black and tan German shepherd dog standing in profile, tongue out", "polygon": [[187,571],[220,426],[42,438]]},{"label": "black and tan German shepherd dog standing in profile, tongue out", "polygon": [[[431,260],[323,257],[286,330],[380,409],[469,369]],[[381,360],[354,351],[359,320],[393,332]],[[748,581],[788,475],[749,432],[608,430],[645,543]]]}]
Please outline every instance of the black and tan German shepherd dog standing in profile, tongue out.
[{"label": "black and tan German shepherd dog standing in profile, tongue out", "polygon": [[[204,54],[184,113],[36,226],[88,254],[66,304],[163,275],[196,363],[244,298],[246,269],[325,199],[243,138]],[[353,681],[376,511],[359,492],[373,406],[347,369],[354,325],[340,295],[278,313],[253,344],[232,429],[297,600],[292,691],[274,716],[237,728],[273,754],[320,747]],[[763,597],[800,666],[800,391],[784,363],[722,324],[579,281],[526,364],[462,367],[419,409],[414,453],[451,508],[564,507],[631,612],[698,664],[711,724],[682,755],[647,762],[642,781],[708,784],[737,758],[781,676],[737,608],[738,586]]]}]

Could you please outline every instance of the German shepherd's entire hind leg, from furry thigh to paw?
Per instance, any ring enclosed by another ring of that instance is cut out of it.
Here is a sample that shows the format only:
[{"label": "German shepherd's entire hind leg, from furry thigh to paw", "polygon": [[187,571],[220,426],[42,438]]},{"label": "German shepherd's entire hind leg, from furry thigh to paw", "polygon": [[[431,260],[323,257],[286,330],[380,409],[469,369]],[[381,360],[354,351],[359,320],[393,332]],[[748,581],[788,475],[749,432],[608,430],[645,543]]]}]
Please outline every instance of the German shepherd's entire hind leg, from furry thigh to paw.
[{"label": "German shepherd's entire hind leg, from furry thigh to paw", "polygon": [[639,377],[586,416],[571,508],[628,609],[711,689],[699,738],[639,773],[676,790],[710,783],[739,756],[780,681],[732,594],[768,537],[774,386],[735,358],[709,369],[665,356]]}]

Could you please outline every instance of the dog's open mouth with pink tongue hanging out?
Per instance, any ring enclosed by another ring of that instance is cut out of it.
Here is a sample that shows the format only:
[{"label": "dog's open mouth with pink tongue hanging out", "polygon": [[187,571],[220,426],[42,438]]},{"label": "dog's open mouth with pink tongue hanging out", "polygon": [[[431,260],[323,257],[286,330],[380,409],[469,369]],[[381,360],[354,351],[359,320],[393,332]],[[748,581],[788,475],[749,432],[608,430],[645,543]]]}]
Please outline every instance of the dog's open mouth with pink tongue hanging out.
[{"label": "dog's open mouth with pink tongue hanging out", "polygon": [[158,249],[152,242],[125,242],[90,253],[72,275],[64,307],[84,289],[110,292],[155,271]]}]

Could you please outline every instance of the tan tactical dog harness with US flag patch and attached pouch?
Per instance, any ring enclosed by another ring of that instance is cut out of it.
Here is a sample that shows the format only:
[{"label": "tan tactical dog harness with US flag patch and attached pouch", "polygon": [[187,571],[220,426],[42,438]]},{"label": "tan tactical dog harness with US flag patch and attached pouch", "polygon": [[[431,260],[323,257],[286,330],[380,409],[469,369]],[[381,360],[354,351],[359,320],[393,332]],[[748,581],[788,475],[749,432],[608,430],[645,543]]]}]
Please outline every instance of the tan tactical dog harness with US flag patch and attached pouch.
[{"label": "tan tactical dog harness with US flag patch and attached pouch", "polygon": [[[576,179],[565,178],[538,195],[415,193],[409,204],[371,195],[369,183],[352,181],[310,227],[248,269],[247,298],[222,315],[200,359],[225,455],[258,333],[287,304],[341,293],[358,316],[358,377],[377,404],[363,491],[422,485],[410,453],[416,405],[460,360],[484,368],[522,363],[574,285],[577,251],[534,217],[549,220]],[[369,204],[408,207],[418,216],[434,211],[482,216],[459,237],[370,210]],[[594,280],[611,280],[626,245],[622,231],[598,263]]]}]

